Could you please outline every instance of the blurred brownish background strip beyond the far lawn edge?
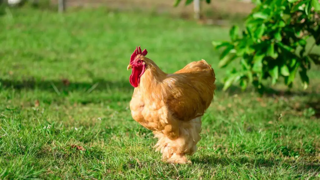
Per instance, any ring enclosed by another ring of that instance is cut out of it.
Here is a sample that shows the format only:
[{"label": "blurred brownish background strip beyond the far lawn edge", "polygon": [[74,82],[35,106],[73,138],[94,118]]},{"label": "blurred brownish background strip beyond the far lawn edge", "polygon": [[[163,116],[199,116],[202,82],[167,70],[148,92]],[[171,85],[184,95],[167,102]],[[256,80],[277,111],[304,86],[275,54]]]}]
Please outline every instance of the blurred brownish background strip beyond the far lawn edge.
[{"label": "blurred brownish background strip beyond the far lawn edge", "polygon": [[[21,5],[29,2],[34,5],[41,4],[42,6],[57,6],[58,4],[63,4],[65,8],[75,8],[75,7],[99,7],[105,6],[108,9],[113,9],[117,11],[132,11],[139,10],[145,12],[155,12],[155,13],[170,13],[177,15],[178,17],[188,18],[193,17],[194,7],[193,5],[184,6],[181,3],[180,6],[173,8],[175,1],[164,0],[164,1],[148,1],[148,0],[3,0],[7,1],[8,4],[13,6]],[[198,3],[198,2],[196,2]],[[211,4],[206,4],[205,1],[200,0],[201,13],[202,15],[217,17],[218,19],[226,18],[236,15],[246,15],[251,12],[254,7],[251,0],[214,0]],[[61,5],[60,5],[61,6]],[[221,17],[219,17],[221,16]]]}]

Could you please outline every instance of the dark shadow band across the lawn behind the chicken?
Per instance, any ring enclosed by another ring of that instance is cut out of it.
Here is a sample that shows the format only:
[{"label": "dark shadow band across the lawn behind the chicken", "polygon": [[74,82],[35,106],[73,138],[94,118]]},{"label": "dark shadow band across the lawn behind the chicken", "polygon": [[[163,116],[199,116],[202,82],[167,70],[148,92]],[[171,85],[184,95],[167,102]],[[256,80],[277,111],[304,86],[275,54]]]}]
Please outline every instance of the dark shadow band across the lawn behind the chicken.
[{"label": "dark shadow band across the lawn behind the chicken", "polygon": [[[90,82],[71,82],[68,79],[61,80],[36,80],[35,78],[29,78],[25,80],[14,80],[14,79],[1,79],[0,82],[2,86],[6,88],[13,88],[15,90],[33,90],[39,89],[43,91],[59,91],[59,92],[73,92],[73,91],[108,91],[108,90],[122,90],[125,92],[129,92],[133,90],[133,87],[129,83],[129,79],[127,81],[108,81],[104,79],[93,78],[92,83]],[[216,85],[218,92],[223,92],[223,84],[217,83]],[[230,88],[223,93],[227,93],[229,95],[234,94],[248,94],[255,92],[253,88],[247,88],[245,91],[242,91],[238,86],[230,86]],[[309,92],[300,92],[300,91],[278,91],[275,89],[267,89],[265,94],[268,97],[272,96],[307,96],[312,95],[314,93]],[[320,107],[319,107],[320,109]]]}]

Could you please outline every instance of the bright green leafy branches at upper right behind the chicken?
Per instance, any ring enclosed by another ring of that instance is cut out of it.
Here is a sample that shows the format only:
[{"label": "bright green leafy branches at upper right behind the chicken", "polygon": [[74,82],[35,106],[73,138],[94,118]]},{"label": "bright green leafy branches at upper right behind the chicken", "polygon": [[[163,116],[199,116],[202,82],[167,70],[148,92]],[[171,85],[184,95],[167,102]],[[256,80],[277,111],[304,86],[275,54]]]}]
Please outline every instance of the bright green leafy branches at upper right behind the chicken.
[{"label": "bright green leafy branches at upper right behind the chicken", "polygon": [[[263,93],[263,80],[271,78],[275,85],[283,77],[292,87],[299,71],[304,88],[308,87],[311,61],[319,64],[319,55],[311,49],[320,44],[318,0],[265,0],[246,18],[245,29],[239,36],[239,27],[233,26],[230,40],[213,42],[216,49],[224,47],[219,66],[224,68],[240,58],[241,70],[233,69],[225,79],[224,90],[238,82],[242,89],[252,83]],[[315,43],[306,52],[307,39]]]}]

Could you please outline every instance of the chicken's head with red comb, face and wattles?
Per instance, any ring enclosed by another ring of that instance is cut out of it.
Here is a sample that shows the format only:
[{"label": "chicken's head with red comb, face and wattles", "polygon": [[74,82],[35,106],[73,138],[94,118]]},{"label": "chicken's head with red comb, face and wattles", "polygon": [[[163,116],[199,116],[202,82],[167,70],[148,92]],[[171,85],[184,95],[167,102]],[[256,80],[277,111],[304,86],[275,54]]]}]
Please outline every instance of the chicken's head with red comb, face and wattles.
[{"label": "chicken's head with red comb, face and wattles", "polygon": [[130,64],[128,65],[127,70],[132,69],[132,73],[130,75],[130,84],[133,87],[139,86],[140,77],[146,70],[146,62],[143,61],[140,57],[147,55],[147,53],[148,52],[146,49],[141,51],[141,48],[139,46],[139,48],[136,47],[136,49],[131,55]]}]

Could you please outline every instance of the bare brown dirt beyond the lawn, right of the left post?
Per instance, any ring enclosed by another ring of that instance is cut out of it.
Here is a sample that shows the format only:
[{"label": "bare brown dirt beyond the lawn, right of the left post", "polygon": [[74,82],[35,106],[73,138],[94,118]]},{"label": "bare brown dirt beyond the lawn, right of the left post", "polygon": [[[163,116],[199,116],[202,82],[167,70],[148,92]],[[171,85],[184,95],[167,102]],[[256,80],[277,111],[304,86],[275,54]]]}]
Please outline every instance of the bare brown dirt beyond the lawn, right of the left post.
[{"label": "bare brown dirt beyond the lawn, right of the left post", "polygon": [[[68,0],[68,7],[97,7],[105,5],[110,9],[120,11],[141,10],[151,11],[157,13],[169,13],[179,16],[191,16],[193,14],[193,5],[185,6],[181,3],[178,7],[174,8],[173,0]],[[57,0],[52,0],[53,4]],[[211,4],[202,2],[202,14],[207,15],[213,13],[215,15],[224,12],[228,14],[243,14],[246,15],[251,12],[254,4],[243,2],[239,0],[214,0]]]}]

